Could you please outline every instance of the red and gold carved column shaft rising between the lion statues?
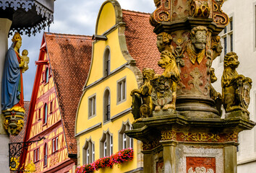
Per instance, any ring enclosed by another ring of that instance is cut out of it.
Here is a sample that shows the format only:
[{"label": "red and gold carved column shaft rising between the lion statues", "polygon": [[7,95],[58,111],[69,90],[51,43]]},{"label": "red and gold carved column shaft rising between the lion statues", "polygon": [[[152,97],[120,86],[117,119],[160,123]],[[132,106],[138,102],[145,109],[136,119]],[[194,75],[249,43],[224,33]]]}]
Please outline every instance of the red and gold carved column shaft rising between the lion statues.
[{"label": "red and gold carved column shaft rising between the lion statues", "polygon": [[[217,117],[211,97],[212,39],[229,23],[217,0],[155,0],[150,23],[154,32],[171,35],[171,50],[180,71],[176,110],[189,116]],[[187,112],[189,111],[189,112]],[[192,112],[191,112],[192,111]]]}]

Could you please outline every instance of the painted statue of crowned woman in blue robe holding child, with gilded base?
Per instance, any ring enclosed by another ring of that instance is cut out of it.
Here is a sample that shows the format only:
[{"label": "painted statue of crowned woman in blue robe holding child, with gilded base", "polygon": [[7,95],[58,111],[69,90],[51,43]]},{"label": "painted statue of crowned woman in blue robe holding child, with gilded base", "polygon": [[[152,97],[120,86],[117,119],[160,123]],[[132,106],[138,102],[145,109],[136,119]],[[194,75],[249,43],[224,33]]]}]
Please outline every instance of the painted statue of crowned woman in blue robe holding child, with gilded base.
[{"label": "painted statue of crowned woman in blue robe holding child, with gilded base", "polygon": [[22,37],[15,32],[12,45],[5,58],[1,86],[1,111],[6,118],[4,127],[13,135],[17,135],[22,129],[23,121],[21,120],[25,115],[22,71],[27,70],[28,66],[26,63],[25,67],[25,61],[29,61],[29,58],[26,50],[20,56],[21,45]]}]

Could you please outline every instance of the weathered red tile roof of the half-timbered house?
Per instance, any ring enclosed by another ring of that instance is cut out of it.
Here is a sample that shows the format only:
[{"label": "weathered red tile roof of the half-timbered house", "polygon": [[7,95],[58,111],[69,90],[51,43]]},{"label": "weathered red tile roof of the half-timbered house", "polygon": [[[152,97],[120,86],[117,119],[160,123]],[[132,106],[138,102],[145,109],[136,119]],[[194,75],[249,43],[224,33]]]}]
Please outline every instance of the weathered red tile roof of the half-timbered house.
[{"label": "weathered red tile roof of the half-timbered house", "polygon": [[74,125],[92,52],[91,36],[45,33],[46,49],[69,154],[77,154]]}]

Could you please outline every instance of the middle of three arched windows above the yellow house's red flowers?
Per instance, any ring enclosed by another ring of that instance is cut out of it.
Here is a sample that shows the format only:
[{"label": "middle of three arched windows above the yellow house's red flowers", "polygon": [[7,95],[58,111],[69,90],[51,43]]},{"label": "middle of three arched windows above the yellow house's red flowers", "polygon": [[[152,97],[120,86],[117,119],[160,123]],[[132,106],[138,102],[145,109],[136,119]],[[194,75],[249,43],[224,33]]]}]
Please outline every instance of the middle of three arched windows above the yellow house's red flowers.
[{"label": "middle of three arched windows above the yellow house's red flowers", "polygon": [[111,156],[113,154],[113,136],[109,133],[103,133],[100,140],[100,156]]}]

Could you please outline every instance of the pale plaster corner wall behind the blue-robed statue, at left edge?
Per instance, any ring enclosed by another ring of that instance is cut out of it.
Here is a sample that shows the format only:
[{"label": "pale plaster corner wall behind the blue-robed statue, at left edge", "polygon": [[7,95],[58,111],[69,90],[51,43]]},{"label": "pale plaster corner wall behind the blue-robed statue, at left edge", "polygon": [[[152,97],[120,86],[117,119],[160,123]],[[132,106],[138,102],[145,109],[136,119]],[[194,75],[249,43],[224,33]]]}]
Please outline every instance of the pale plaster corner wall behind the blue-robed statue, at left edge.
[{"label": "pale plaster corner wall behind the blue-robed statue, at left edge", "polygon": [[[0,18],[0,91],[1,91],[1,77],[4,68],[5,54],[8,49],[8,33],[12,25],[9,19]],[[1,92],[0,92],[1,93]],[[0,97],[1,102],[1,97]],[[1,104],[0,104],[1,112]],[[0,172],[9,172],[9,136],[5,132],[4,117],[0,117]]]}]

